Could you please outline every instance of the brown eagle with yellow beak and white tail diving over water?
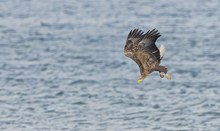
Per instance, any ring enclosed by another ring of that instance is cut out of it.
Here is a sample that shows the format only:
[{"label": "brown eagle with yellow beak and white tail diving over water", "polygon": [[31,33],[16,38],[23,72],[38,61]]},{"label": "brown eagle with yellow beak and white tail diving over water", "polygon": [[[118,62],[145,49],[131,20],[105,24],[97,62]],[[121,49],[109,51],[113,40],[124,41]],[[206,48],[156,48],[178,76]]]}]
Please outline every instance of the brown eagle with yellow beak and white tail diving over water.
[{"label": "brown eagle with yellow beak and white tail diving over water", "polygon": [[138,84],[153,71],[158,71],[161,78],[164,77],[164,73],[168,80],[171,79],[167,73],[167,67],[160,66],[165,53],[164,45],[161,45],[160,49],[158,49],[155,44],[160,36],[161,34],[156,28],[148,30],[146,33],[138,28],[133,29],[127,36],[124,54],[134,60],[140,68],[141,75],[137,81]]}]

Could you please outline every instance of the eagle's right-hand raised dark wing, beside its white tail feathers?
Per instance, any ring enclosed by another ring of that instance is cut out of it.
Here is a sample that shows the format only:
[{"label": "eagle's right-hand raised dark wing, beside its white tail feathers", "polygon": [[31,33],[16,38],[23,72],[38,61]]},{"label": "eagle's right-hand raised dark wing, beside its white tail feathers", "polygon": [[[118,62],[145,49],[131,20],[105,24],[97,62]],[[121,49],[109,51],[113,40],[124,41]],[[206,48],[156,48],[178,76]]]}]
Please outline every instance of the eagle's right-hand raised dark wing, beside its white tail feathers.
[{"label": "eagle's right-hand raised dark wing, beside its white tail feathers", "polygon": [[160,33],[158,30],[153,29],[149,30],[147,33],[144,34],[141,41],[138,43],[138,47],[140,50],[147,52],[154,56],[158,62],[160,62],[160,51],[157,48],[155,42],[160,37]]}]

